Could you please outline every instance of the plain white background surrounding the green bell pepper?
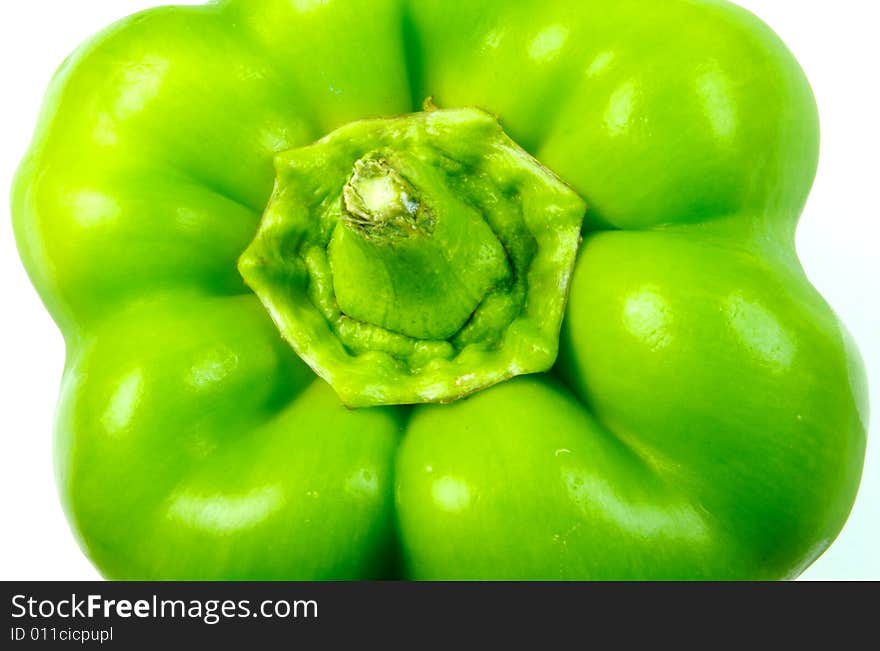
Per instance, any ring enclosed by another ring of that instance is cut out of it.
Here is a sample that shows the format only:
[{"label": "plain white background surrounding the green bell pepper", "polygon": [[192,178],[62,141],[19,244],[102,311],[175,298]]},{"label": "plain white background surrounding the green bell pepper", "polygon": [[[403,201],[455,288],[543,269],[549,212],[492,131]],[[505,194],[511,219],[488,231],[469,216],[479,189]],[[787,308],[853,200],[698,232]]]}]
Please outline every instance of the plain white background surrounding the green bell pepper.
[{"label": "plain white background surrounding the green bell pepper", "polygon": [[[813,283],[859,342],[872,379],[872,405],[880,410],[880,3],[739,3],[788,43],[818,97],[822,163],[798,246]],[[97,29],[157,4],[164,3],[0,3],[0,194],[8,196],[42,93],[58,64]],[[99,578],[77,547],[55,492],[51,431],[63,342],[19,263],[8,209],[0,213],[0,579]],[[873,419],[852,517],[804,578],[880,579],[878,421]]]}]

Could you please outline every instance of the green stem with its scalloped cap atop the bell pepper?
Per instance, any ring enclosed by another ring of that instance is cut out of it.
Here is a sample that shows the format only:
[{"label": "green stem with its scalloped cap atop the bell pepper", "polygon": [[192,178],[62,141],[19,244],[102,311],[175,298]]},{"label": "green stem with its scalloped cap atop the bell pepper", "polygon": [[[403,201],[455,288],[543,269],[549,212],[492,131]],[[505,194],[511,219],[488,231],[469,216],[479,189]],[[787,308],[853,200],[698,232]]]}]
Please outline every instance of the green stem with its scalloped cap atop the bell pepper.
[{"label": "green stem with its scalloped cap atop the bell pepper", "polygon": [[496,118],[355,122],[276,168],[239,269],[347,405],[448,402],[552,367],[585,205]]}]

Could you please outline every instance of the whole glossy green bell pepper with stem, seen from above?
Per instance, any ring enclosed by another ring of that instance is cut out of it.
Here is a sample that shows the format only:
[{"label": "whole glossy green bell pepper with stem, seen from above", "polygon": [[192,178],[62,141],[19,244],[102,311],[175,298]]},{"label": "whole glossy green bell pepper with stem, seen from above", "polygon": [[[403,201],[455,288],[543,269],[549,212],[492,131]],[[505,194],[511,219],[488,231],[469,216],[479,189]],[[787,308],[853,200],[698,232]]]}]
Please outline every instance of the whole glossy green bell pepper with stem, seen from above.
[{"label": "whole glossy green bell pepper with stem, seen from above", "polygon": [[80,544],[118,579],[797,576],[868,418],[794,249],[818,142],[723,0],[123,20],[13,189]]}]

